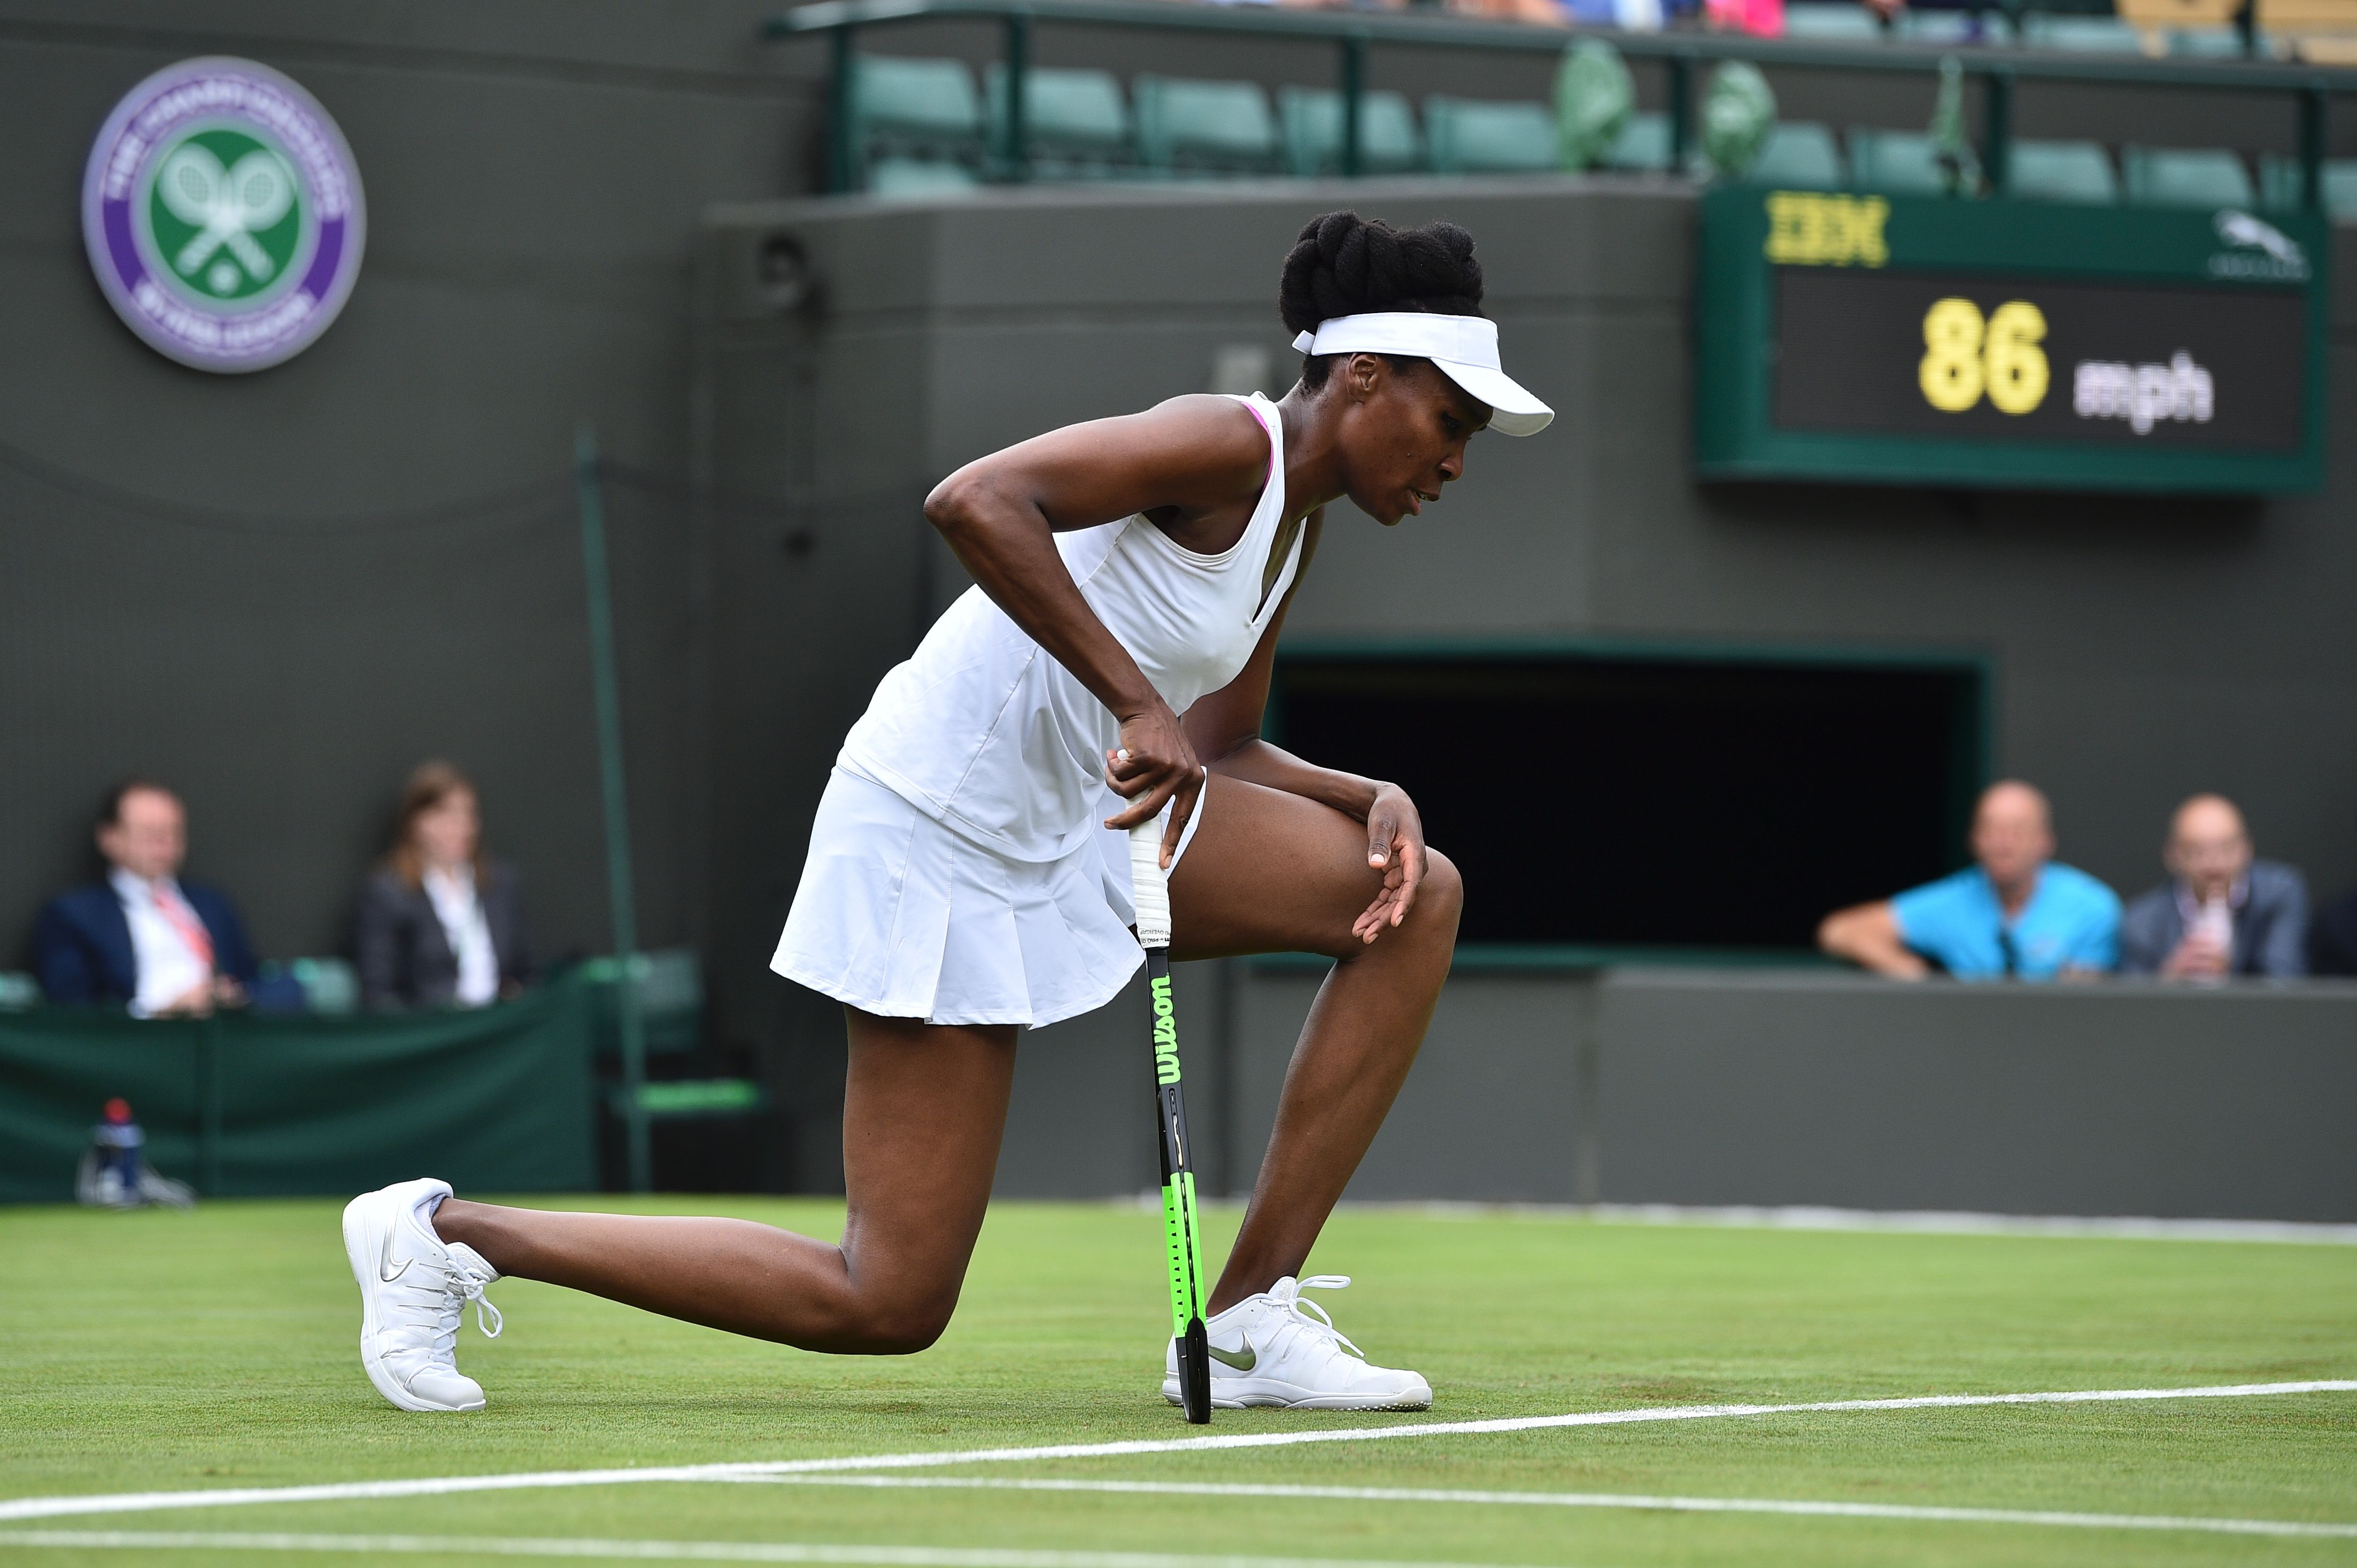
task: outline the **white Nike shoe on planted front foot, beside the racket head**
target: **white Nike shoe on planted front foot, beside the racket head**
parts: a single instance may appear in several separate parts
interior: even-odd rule
[[[1242,1410],[1431,1410],[1433,1386],[1417,1372],[1367,1361],[1303,1290],[1341,1290],[1346,1273],[1282,1278],[1204,1323],[1211,1344],[1211,1405]],[[1162,1363],[1162,1398],[1178,1403],[1178,1342]]]

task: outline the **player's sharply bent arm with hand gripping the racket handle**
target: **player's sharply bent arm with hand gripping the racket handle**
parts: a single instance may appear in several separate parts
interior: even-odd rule
[[[1202,764],[1162,693],[1082,599],[1056,533],[1134,512],[1214,512],[1261,490],[1268,434],[1233,398],[1171,398],[1138,415],[1068,424],[981,457],[943,479],[924,516],[983,592],[1070,670],[1122,724],[1108,778],[1129,809],[1108,828],[1153,818],[1176,797],[1164,861],[1202,790]]]

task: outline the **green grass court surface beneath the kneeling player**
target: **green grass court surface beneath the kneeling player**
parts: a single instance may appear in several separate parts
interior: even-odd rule
[[[606,1200],[601,1200],[606,1203]],[[613,1203],[620,1207],[620,1203]],[[834,1236],[841,1207],[658,1200]],[[1207,1217],[1223,1243],[1235,1212]],[[403,1415],[354,1353],[332,1203],[0,1212],[0,1497],[1188,1436],[1157,1396],[1160,1217],[999,1205],[933,1351],[851,1361],[526,1280],[471,1327],[467,1417]],[[1214,1257],[1219,1247],[1214,1245]],[[1343,1212],[1341,1327],[1431,1417],[2357,1375],[2357,1247],[1803,1233]],[[2357,1521],[2357,1394],[1784,1415],[992,1464],[988,1476],[1676,1493]],[[14,1528],[316,1530],[1327,1556],[1457,1563],[2350,1563],[2352,1540],[1438,1502],[610,1485],[101,1514]],[[57,1563],[233,1551],[26,1549]],[[351,1563],[354,1556],[255,1554]],[[403,1559],[408,1561],[408,1559]],[[495,1561],[495,1559],[455,1559]]]

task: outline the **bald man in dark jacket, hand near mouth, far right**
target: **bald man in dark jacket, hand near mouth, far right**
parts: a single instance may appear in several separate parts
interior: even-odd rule
[[[2230,974],[2308,974],[2308,882],[2251,856],[2242,811],[2225,795],[2194,795],[2168,821],[2168,882],[2119,922],[2124,974],[2223,981]]]

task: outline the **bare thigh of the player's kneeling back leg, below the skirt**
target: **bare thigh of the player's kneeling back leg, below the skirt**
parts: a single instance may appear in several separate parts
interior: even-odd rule
[[[1016,1030],[844,1016],[844,1254],[860,1285],[955,1302],[997,1172]]]

